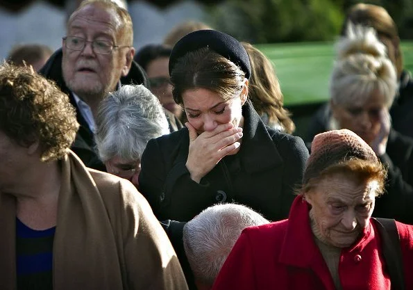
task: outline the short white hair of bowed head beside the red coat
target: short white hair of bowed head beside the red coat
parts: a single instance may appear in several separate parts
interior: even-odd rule
[[[183,245],[195,279],[212,286],[242,230],[266,223],[241,204],[217,204],[189,220],[183,227]]]

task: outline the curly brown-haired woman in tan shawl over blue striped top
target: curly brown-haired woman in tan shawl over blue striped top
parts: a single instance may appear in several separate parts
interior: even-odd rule
[[[54,83],[0,66],[0,289],[187,289],[142,195],[69,150],[77,129]]]

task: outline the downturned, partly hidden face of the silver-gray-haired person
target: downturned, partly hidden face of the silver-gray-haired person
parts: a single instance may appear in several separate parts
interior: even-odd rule
[[[138,177],[140,174],[140,160],[126,161],[119,156],[115,156],[106,161],[105,166],[108,173],[128,179],[139,189]]]

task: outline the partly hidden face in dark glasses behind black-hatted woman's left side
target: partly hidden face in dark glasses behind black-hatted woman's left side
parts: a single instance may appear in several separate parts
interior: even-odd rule
[[[172,85],[169,78],[169,57],[155,58],[146,67],[146,74],[151,83],[153,95],[158,97],[160,103],[168,111],[171,111],[177,118],[183,113],[182,108],[176,104],[172,95]]]

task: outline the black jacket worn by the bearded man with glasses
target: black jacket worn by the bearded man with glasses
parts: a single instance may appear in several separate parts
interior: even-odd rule
[[[45,76],[47,79],[56,81],[56,84],[60,87],[63,92],[66,92],[69,95],[71,104],[76,108],[76,118],[80,127],[76,134],[74,143],[71,145],[71,150],[79,156],[79,158],[85,163],[85,166],[94,168],[96,170],[106,171],[105,166],[99,159],[99,156],[96,152],[96,144],[94,143],[94,134],[89,129],[85,118],[80,113],[79,108],[76,104],[76,101],[67,88],[65,81],[63,80],[62,75],[62,49],[58,49],[47,61],[47,63],[40,70],[40,74]],[[149,81],[146,76],[146,73],[133,61],[130,71],[127,76],[121,77],[121,83],[129,84],[143,84],[146,87],[149,87]]]

